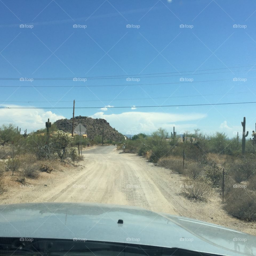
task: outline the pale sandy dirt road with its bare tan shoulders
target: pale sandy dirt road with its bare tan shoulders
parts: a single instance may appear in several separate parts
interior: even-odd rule
[[[222,209],[221,196],[208,202],[184,198],[180,185],[184,177],[154,166],[135,154],[123,154],[115,146],[97,146],[83,151],[78,167],[65,167],[51,174],[41,173],[20,187],[5,177],[8,192],[1,204],[25,202],[97,202],[139,206],[152,211],[199,219],[256,235],[256,223],[229,216]]]

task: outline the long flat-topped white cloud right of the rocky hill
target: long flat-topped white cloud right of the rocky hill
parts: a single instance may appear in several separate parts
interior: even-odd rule
[[[93,118],[103,118],[123,134],[144,132],[152,133],[159,127],[167,130],[175,129],[177,134],[184,130],[193,130],[197,128],[196,124],[188,123],[189,121],[205,118],[206,114],[186,113],[186,114],[170,114],[162,112],[123,112],[121,114],[106,114],[98,112],[91,115]],[[182,122],[182,123],[181,123]],[[186,123],[185,123],[186,122]]]

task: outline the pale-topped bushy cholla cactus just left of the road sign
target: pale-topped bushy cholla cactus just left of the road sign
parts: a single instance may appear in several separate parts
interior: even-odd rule
[[[63,160],[65,157],[67,148],[71,145],[73,141],[73,137],[70,136],[69,133],[65,133],[64,131],[57,131],[52,136],[52,144],[54,152],[58,154],[58,156]]]

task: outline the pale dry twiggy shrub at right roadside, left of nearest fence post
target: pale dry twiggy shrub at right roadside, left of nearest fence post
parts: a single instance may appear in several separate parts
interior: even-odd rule
[[[199,179],[187,179],[181,185],[182,194],[190,199],[205,200],[213,195],[214,190]]]

